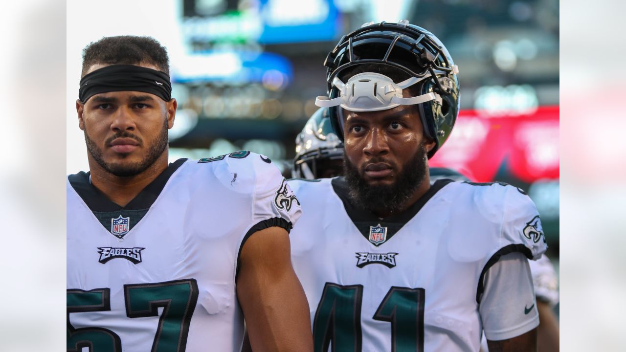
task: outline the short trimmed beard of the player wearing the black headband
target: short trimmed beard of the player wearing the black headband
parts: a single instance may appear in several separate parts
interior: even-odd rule
[[[168,123],[167,122],[168,121],[166,118],[165,122],[163,123],[163,128],[161,129],[161,132],[156,137],[155,142],[152,143],[152,145],[150,145],[150,148],[148,148],[148,155],[146,155],[146,157],[143,158],[143,160],[141,160],[140,162],[132,162],[132,163],[105,162],[105,159],[102,157],[102,150],[98,148],[96,143],[93,142],[93,140],[87,134],[87,130],[85,130],[85,143],[87,145],[87,151],[90,153],[93,160],[95,160],[96,163],[100,165],[101,168],[103,168],[106,172],[111,173],[112,175],[115,175],[117,177],[131,177],[131,176],[138,175],[141,172],[144,172],[149,167],[151,167],[153,163],[155,163],[156,160],[163,154],[163,152],[165,152],[165,149],[167,148],[167,143],[168,143],[168,138],[167,138]],[[134,140],[139,142],[140,145],[143,144],[143,140],[141,140],[140,137],[128,131],[121,131],[121,132],[115,133],[115,135],[113,135],[112,137],[106,140],[105,144],[108,145],[108,143],[113,142],[113,140],[115,140],[116,138],[123,138],[123,137],[133,138]]]

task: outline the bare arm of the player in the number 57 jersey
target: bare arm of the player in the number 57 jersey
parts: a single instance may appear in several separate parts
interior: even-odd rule
[[[255,352],[312,351],[309,305],[291,266],[282,229],[253,234],[244,245],[237,297]]]

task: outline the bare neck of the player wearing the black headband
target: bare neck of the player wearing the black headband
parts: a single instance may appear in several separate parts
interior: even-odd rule
[[[106,172],[95,160],[89,159],[91,184],[111,202],[125,207],[147,185],[160,175],[168,165],[168,152],[165,150],[156,161],[141,173],[130,177],[119,177]]]

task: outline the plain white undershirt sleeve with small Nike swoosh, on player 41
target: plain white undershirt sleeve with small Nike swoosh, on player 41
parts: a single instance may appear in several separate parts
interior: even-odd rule
[[[523,254],[505,254],[490,267],[478,310],[485,336],[492,341],[520,336],[539,325],[530,267]]]

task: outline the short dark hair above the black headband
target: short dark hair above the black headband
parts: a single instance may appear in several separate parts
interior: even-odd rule
[[[149,36],[103,37],[83,49],[83,72],[85,76],[91,65],[155,65],[160,71],[170,75],[170,59],[167,49]]]

